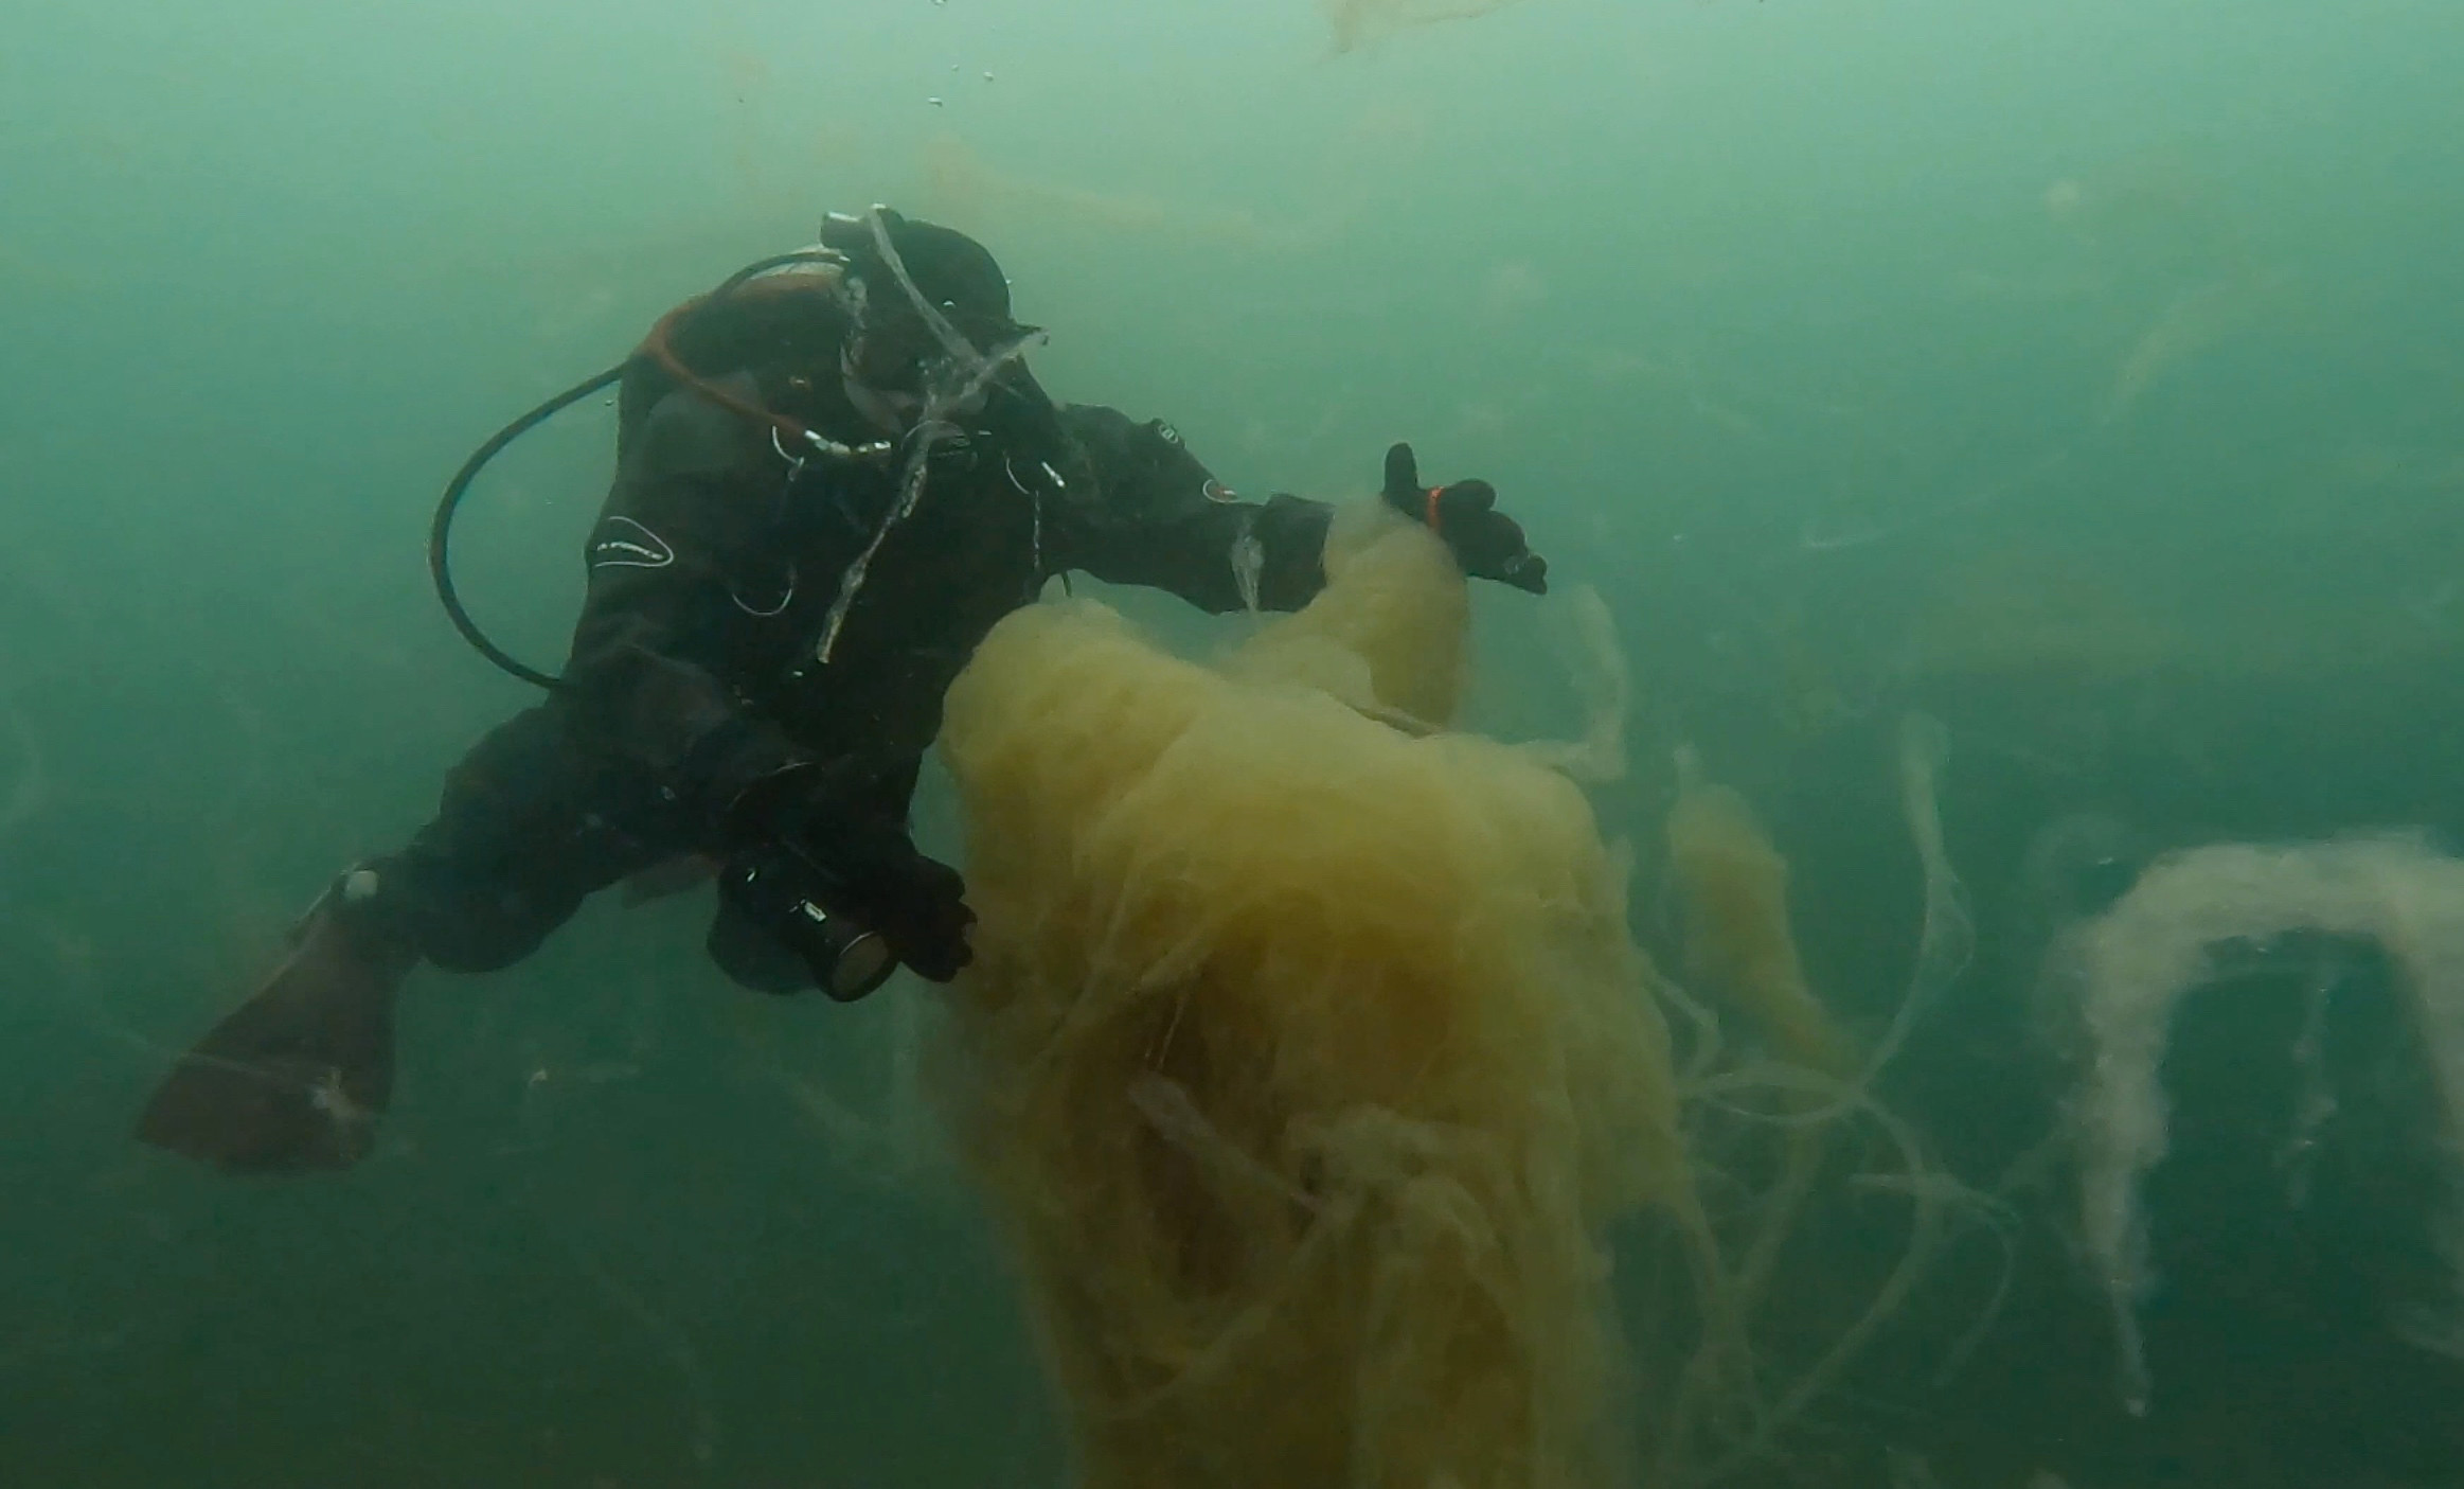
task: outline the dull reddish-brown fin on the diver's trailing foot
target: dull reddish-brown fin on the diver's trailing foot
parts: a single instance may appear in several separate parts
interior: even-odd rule
[[[367,1156],[394,1090],[394,991],[419,954],[350,912],[362,873],[318,900],[266,986],[180,1055],[138,1139],[232,1173]]]

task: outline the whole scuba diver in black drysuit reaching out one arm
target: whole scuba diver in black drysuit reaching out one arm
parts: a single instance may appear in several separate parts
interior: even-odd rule
[[[717,865],[707,952],[734,981],[860,998],[968,961],[958,873],[917,851],[909,794],[968,653],[1045,582],[1087,572],[1215,611],[1323,584],[1331,508],[1237,500],[1170,424],[1052,402],[1010,288],[971,237],[887,207],[670,311],[618,367],[508,426],[431,542],[466,638],[549,688],[453,767],[436,818],[333,880],[264,989],[182,1055],[138,1136],[239,1173],[357,1161],[421,961],[478,974],[596,890]],[[453,599],[451,513],[503,444],[616,385],[616,478],[584,540],[562,678]],[[1533,594],[1547,565],[1486,481],[1385,496],[1466,574]]]

